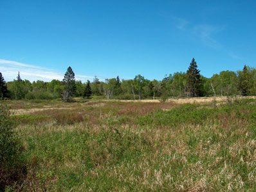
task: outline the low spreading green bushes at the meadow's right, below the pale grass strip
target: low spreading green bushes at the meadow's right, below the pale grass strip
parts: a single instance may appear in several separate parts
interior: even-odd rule
[[[256,106],[248,106],[247,103],[229,106],[223,105],[221,108],[199,108],[196,104],[184,104],[170,111],[159,110],[145,116],[138,116],[137,122],[140,125],[170,125],[176,127],[183,124],[203,125],[206,122],[231,123],[233,118],[239,117],[256,122],[253,114]],[[248,114],[250,113],[250,116]]]

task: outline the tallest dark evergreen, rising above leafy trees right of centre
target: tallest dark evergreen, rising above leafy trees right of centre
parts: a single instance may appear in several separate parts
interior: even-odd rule
[[[199,97],[201,92],[200,70],[197,69],[196,61],[193,58],[187,70],[187,92],[190,97]]]

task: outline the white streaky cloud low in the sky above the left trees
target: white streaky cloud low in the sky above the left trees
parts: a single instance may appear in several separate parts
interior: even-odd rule
[[[20,72],[22,79],[28,79],[29,81],[51,81],[52,79],[62,80],[64,73],[54,70],[52,68],[45,68],[37,65],[29,65],[25,63],[19,63],[17,61],[9,61],[0,59],[0,72],[2,72],[6,81],[12,81],[17,77]],[[94,77],[84,76],[76,74],[76,79],[82,82],[93,80]]]

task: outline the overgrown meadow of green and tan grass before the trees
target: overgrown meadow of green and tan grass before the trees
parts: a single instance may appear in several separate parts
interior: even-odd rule
[[[8,101],[27,164],[18,188],[256,191],[250,102]]]

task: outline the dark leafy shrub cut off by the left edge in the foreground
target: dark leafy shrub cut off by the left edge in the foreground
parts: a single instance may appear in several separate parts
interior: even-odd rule
[[[22,150],[10,110],[5,104],[0,104],[0,191],[23,177],[26,169]]]

